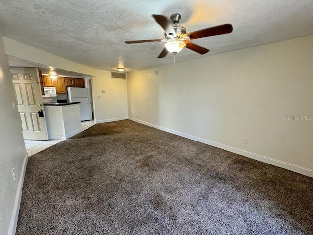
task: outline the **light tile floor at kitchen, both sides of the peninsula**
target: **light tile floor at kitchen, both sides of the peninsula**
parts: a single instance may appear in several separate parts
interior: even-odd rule
[[[94,121],[83,121],[82,122],[83,131],[85,131],[86,129],[93,125]],[[25,140],[25,146],[28,156],[31,156],[61,141],[62,140],[48,140],[48,141]]]

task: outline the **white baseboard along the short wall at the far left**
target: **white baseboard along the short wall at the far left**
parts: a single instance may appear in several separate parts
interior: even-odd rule
[[[15,202],[14,202],[13,213],[12,213],[12,217],[10,221],[8,235],[15,235],[16,226],[17,226],[18,217],[19,217],[19,210],[20,210],[20,203],[21,203],[22,189],[23,189],[23,184],[24,184],[27,161],[28,161],[28,154],[26,153],[26,156],[22,165],[22,171],[20,175],[18,188],[17,188],[16,195],[15,195]]]

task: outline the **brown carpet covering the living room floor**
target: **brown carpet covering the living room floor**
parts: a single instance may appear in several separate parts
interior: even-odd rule
[[[17,234],[309,235],[313,178],[130,120],[97,124],[29,158]]]

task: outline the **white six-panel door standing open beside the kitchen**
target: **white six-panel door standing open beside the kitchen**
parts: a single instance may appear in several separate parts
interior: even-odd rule
[[[11,74],[24,140],[48,140],[45,117],[38,114],[44,111],[38,69],[11,69]]]

